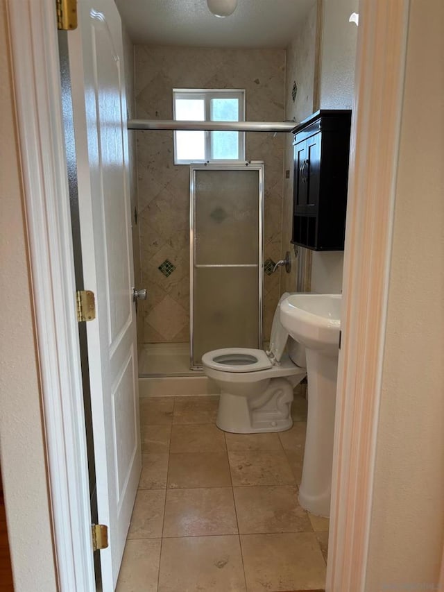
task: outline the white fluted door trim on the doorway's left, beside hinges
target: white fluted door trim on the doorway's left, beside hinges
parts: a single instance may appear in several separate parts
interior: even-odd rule
[[[58,580],[61,591],[89,592],[96,586],[55,2],[7,6]]]

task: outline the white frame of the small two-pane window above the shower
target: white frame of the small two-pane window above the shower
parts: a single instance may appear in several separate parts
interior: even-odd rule
[[[239,118],[237,121],[245,121],[245,89],[240,88],[173,88],[173,119],[174,121],[187,121],[186,119],[176,119],[176,99],[200,99],[204,101],[205,119],[203,121],[212,121],[211,101],[212,99],[237,99],[239,104]],[[191,121],[191,120],[189,120]],[[177,135],[178,130],[174,131],[174,164],[191,164],[192,162],[243,162],[246,153],[245,132],[237,132],[239,145],[239,158],[221,159],[211,158],[212,151],[212,132],[205,130],[205,158],[197,159],[179,159],[177,156]]]

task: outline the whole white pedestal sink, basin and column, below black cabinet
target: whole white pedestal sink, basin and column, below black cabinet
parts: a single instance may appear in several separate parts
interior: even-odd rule
[[[341,294],[291,294],[280,321],[307,354],[308,416],[300,505],[330,515]]]

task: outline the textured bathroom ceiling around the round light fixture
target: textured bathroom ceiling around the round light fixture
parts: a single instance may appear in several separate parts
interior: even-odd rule
[[[206,0],[115,0],[135,44],[285,48],[316,0],[238,0],[219,19]]]

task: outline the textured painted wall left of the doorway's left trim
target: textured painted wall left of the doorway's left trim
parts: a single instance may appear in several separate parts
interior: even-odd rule
[[[56,592],[24,203],[0,0],[0,462],[17,592]],[[38,511],[36,511],[38,509]]]

